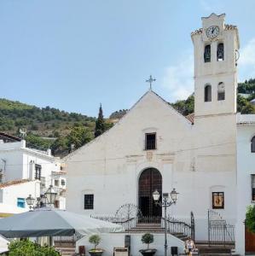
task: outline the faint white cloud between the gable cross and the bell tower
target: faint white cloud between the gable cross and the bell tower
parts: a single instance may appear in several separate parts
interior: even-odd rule
[[[194,92],[193,55],[185,55],[176,65],[166,67],[163,87],[170,90],[171,101],[187,99]]]

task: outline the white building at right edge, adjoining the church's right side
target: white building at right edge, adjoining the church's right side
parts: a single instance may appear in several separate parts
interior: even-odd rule
[[[246,207],[255,202],[255,115],[237,115],[236,252],[255,252],[255,235],[245,228]]]

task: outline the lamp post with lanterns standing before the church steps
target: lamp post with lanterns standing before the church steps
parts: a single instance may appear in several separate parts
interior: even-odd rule
[[[166,224],[166,208],[171,207],[172,204],[177,203],[177,193],[176,189],[171,190],[171,201],[169,201],[169,193],[163,193],[163,200],[162,203],[159,202],[160,194],[159,191],[156,189],[153,193],[155,204],[159,205],[160,207],[164,207],[165,210],[165,256],[167,256],[167,224]]]

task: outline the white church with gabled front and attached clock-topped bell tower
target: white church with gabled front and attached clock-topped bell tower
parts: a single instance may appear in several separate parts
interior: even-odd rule
[[[69,154],[67,210],[114,215],[125,204],[162,216],[153,192],[179,193],[168,208],[208,239],[208,209],[236,221],[236,26],[202,18],[194,44],[194,115],[184,117],[148,90],[109,131]],[[164,213],[163,213],[164,214]]]

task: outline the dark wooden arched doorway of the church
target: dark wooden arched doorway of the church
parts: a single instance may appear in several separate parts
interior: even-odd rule
[[[142,216],[162,216],[162,207],[154,204],[153,193],[162,195],[162,176],[155,168],[145,169],[139,177],[138,200]],[[161,201],[161,196],[159,201]]]

